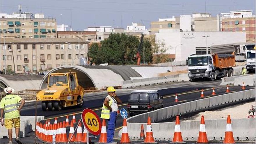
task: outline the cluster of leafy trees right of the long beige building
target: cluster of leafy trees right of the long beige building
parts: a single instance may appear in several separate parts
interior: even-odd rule
[[[136,54],[140,40],[134,35],[125,33],[111,33],[109,38],[99,44],[93,43],[89,49],[90,61],[95,64],[109,63],[111,65],[135,65]],[[145,63],[159,63],[168,61],[164,42],[157,41],[152,35],[144,37],[140,49],[141,62],[143,62],[143,48],[145,49]]]

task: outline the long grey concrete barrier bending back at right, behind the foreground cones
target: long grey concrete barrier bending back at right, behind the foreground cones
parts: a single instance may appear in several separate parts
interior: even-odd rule
[[[140,125],[143,124],[144,127],[146,127],[148,116],[151,117],[152,122],[158,122],[174,117],[175,115],[207,110],[209,108],[217,108],[219,106],[224,106],[227,103],[253,98],[255,98],[255,89],[199,99],[136,115],[127,119],[129,137],[131,139],[137,139],[140,136]],[[231,121],[235,140],[255,140],[255,119],[231,119]],[[205,124],[209,140],[224,139],[226,120],[206,120]],[[172,140],[174,127],[175,122],[152,123],[154,138],[156,140],[164,141]],[[198,138],[199,127],[200,121],[181,122],[183,139],[196,140]],[[119,136],[121,136],[121,134],[122,129],[119,131]]]

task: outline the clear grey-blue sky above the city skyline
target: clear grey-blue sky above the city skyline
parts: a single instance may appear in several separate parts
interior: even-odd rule
[[[255,14],[255,0],[0,0],[0,12],[17,12],[19,4],[22,12],[44,13],[45,18],[56,18],[57,24],[77,31],[91,26],[126,28],[132,22],[149,29],[158,18],[191,13],[207,12],[213,17],[230,10],[253,10]]]

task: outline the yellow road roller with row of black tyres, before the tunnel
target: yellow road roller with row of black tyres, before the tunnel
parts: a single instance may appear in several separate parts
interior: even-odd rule
[[[61,110],[64,107],[83,107],[84,89],[79,86],[76,72],[51,73],[47,88],[39,91],[37,100],[42,101],[43,111]]]

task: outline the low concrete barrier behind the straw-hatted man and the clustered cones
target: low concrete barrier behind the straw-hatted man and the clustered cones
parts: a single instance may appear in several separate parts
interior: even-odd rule
[[[45,116],[37,116],[37,121],[44,120]],[[35,131],[35,116],[20,116],[19,137],[26,137],[31,131]],[[0,125],[0,138],[8,137],[8,129]],[[16,137],[15,129],[13,128],[13,138]]]

